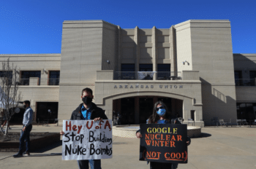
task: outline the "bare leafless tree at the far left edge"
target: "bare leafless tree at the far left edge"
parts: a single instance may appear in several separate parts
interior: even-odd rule
[[[10,66],[10,58],[4,60],[2,63],[2,70],[0,71],[0,106],[4,115],[4,121],[6,120],[6,127],[1,127],[1,132],[4,135],[8,134],[8,125],[15,109],[18,107],[18,101],[20,101],[20,93],[18,94],[18,79],[19,72],[17,66]]]

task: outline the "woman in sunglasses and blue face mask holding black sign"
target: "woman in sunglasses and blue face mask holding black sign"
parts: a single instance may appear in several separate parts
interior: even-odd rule
[[[162,101],[154,104],[153,114],[146,120],[147,124],[181,124],[177,118],[168,119],[167,106]],[[142,138],[140,130],[136,132],[137,138]],[[190,144],[190,138],[187,138],[187,145]],[[150,169],[176,169],[178,163],[150,162]]]

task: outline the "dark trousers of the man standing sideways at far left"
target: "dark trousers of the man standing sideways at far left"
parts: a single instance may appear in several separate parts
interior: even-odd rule
[[[23,126],[24,127],[24,126]],[[26,152],[30,151],[30,132],[32,130],[32,125],[29,125],[26,127],[25,131],[21,130],[20,133],[20,147],[19,147],[19,154],[23,153],[23,146],[24,146],[24,141],[26,141]]]

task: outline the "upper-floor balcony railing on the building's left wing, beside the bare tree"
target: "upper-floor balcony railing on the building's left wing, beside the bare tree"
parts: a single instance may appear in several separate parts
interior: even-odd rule
[[[19,79],[18,85],[59,85],[59,79]]]

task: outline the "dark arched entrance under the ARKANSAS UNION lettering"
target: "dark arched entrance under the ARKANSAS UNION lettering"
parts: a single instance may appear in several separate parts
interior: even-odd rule
[[[151,114],[153,114],[154,103],[162,101],[168,109],[168,118],[183,117],[183,101],[176,98],[167,98],[159,96],[138,96],[129,98],[120,98],[113,100],[113,121],[118,118],[120,125],[138,125],[146,123]],[[115,121],[114,121],[115,122]],[[115,124],[115,123],[114,123]]]

